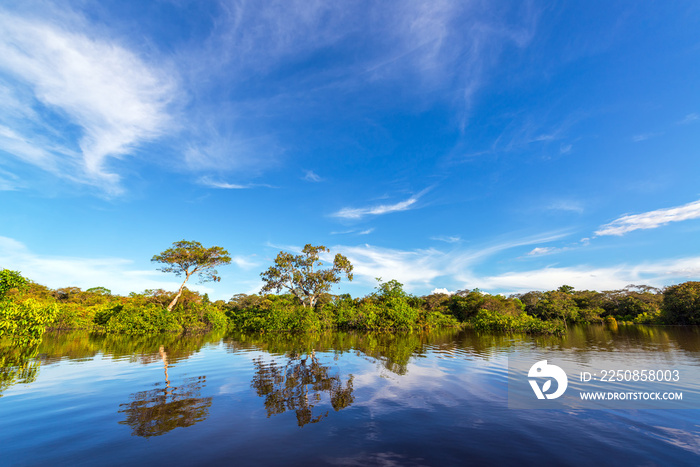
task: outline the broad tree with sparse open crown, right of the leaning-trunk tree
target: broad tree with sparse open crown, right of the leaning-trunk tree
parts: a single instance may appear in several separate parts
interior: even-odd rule
[[[348,280],[352,280],[352,264],[340,253],[333,259],[333,267],[316,269],[323,266],[320,261],[320,253],[329,253],[325,246],[312,246],[307,244],[300,255],[292,255],[280,251],[275,258],[275,265],[260,274],[265,284],[264,293],[273,290],[279,293],[287,289],[294,294],[304,307],[313,308],[318,298],[328,292],[333,284],[340,282],[341,273],[345,273]]]

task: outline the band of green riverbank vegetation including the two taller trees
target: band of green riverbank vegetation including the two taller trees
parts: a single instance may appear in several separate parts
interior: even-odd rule
[[[326,247],[312,245],[296,256],[280,252],[274,266],[261,274],[261,294],[238,294],[215,302],[187,289],[185,282],[193,274],[201,280],[219,280],[213,267],[228,264],[230,257],[220,247],[207,249],[198,242],[175,242],[173,248],[153,257],[165,264],[161,270],[186,276],[177,292],[157,289],[121,296],[104,287],[50,289],[3,269],[0,337],[38,339],[46,329],[145,335],[213,329],[309,332],[462,327],[562,334],[570,323],[700,324],[700,282],[663,290],[630,285],[597,292],[563,285],[509,297],[479,289],[418,297],[404,291],[396,280],[378,279],[373,293],[353,298],[329,293],[342,275],[352,280],[353,266],[336,254],[331,267],[323,269],[320,256],[325,253],[329,253]]]

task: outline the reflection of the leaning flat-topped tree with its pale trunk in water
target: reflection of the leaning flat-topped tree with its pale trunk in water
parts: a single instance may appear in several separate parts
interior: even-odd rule
[[[133,436],[160,436],[178,427],[192,426],[209,416],[212,398],[197,397],[206,385],[206,376],[188,378],[180,386],[171,387],[168,357],[162,346],[160,356],[165,387],[137,392],[131,395],[131,402],[120,405],[123,409],[119,413],[125,413],[126,420],[119,423],[129,425]]]

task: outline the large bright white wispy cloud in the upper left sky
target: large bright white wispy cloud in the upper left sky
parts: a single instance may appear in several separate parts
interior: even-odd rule
[[[0,117],[0,149],[30,164],[115,193],[119,175],[106,160],[172,125],[168,108],[178,91],[171,75],[99,31],[88,33],[80,19],[59,24],[0,10],[0,56],[0,71],[14,81],[2,93],[10,99],[0,106],[11,111]],[[63,119],[79,128],[77,147],[61,135]]]

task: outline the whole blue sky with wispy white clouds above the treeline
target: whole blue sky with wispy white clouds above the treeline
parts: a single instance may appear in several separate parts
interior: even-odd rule
[[[700,279],[700,5],[5,1],[0,267],[212,298],[282,249],[415,294]]]

